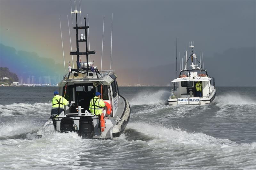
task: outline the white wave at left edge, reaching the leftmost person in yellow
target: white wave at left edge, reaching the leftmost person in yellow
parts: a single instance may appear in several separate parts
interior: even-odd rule
[[[13,103],[0,105],[0,116],[17,116],[17,115],[37,115],[38,113],[47,113],[51,111],[51,103]]]

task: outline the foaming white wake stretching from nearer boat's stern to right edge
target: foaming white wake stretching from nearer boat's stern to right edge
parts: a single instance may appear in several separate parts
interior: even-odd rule
[[[133,135],[138,136],[137,138]],[[228,139],[219,139],[204,133],[188,133],[185,130],[176,128],[166,128],[159,125],[129,123],[124,131],[124,135],[128,140],[142,140],[152,141],[155,144],[181,145],[185,144],[191,147],[205,147],[205,148],[225,148],[228,146],[243,146],[256,149],[256,143],[239,144]],[[145,137],[146,136],[146,137]]]

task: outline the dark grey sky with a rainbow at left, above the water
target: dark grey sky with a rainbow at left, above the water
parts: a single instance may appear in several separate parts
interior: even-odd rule
[[[75,1],[71,1],[74,10]],[[113,13],[112,69],[119,85],[164,86],[176,78],[179,54],[193,41],[195,53],[204,52],[204,65],[216,86],[256,86],[256,1],[80,1],[89,16],[91,60],[100,68],[103,16],[103,64],[110,69],[111,13]],[[76,0],[80,10],[79,0]],[[76,48],[71,29],[70,1],[0,0],[0,66],[27,80],[28,75],[59,81],[72,65]],[[67,16],[68,15],[68,16]],[[78,25],[81,25],[78,14]],[[75,15],[73,15],[75,26]],[[82,48],[82,47],[80,47]],[[84,50],[85,51],[85,50]],[[76,61],[76,56],[73,58]],[[82,61],[85,57],[82,56]],[[76,67],[76,64],[74,64]],[[235,71],[234,71],[235,70]],[[227,78],[226,75],[234,75]],[[58,77],[58,78],[56,78]],[[242,82],[247,78],[248,81]]]

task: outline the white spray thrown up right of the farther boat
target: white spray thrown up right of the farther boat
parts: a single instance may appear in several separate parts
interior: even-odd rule
[[[251,98],[248,96],[241,95],[237,92],[232,92],[232,94],[222,94],[222,95],[216,95],[213,104],[217,105],[227,105],[227,104],[233,104],[233,105],[245,105],[245,104],[253,104],[256,105],[256,99]]]

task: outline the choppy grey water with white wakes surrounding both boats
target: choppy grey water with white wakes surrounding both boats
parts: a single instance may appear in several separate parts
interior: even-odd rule
[[[131,118],[116,140],[35,138],[56,87],[0,87],[0,169],[256,169],[256,88],[217,87],[204,106],[167,106],[170,87],[120,87]]]

